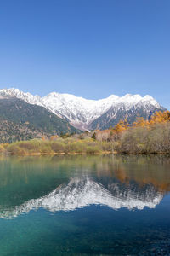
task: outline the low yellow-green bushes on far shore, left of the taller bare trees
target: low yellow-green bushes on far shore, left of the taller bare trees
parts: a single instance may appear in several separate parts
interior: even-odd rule
[[[98,142],[92,138],[77,140],[58,138],[55,141],[33,139],[11,144],[1,144],[2,154],[102,154],[112,153],[113,143]]]

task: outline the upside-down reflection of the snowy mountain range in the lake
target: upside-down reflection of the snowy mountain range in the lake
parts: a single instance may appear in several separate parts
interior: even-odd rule
[[[70,212],[90,205],[107,206],[114,210],[121,207],[142,210],[144,207],[155,208],[162,197],[151,185],[138,190],[133,186],[122,189],[120,183],[110,183],[105,188],[87,176],[74,177],[69,183],[60,184],[57,189],[41,198],[31,199],[8,210],[3,210],[0,206],[0,218],[17,217],[40,207],[50,212]]]

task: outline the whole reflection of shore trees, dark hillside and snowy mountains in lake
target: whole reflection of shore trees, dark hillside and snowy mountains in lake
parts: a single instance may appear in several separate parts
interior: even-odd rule
[[[118,156],[2,159],[0,218],[38,208],[50,212],[90,205],[114,210],[155,208],[169,188],[169,162],[163,163],[165,169],[156,157],[135,161]]]

